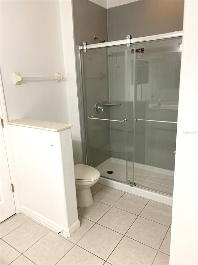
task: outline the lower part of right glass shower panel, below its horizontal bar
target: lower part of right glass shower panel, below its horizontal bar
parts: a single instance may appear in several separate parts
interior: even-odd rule
[[[136,122],[134,181],[137,186],[173,194],[176,130],[176,124]]]

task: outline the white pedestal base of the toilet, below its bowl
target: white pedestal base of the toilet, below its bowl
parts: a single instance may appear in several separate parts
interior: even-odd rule
[[[76,189],[76,197],[78,207],[88,207],[93,203],[92,192],[89,187],[83,190]]]

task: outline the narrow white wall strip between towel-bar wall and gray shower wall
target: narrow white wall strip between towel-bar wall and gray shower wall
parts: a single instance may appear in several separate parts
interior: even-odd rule
[[[80,135],[79,103],[77,95],[73,15],[71,0],[60,1],[60,18],[62,27],[62,44],[67,76],[67,106],[74,152],[74,164],[82,164],[82,146]]]

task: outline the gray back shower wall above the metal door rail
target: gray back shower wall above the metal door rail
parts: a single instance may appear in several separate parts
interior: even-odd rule
[[[183,0],[141,0],[109,8],[108,40],[182,30],[183,6]]]

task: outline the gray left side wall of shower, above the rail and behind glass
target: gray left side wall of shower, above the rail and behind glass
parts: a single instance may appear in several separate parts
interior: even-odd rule
[[[88,44],[95,43],[94,35],[107,41],[107,9],[87,0],[72,1],[72,5],[75,45],[82,45],[84,41]],[[96,40],[97,42],[99,41]],[[110,123],[87,119],[91,115],[110,117],[109,108],[104,108],[104,113],[94,112],[97,101],[102,104],[109,100],[106,49],[88,50],[83,53],[82,64],[87,159],[88,165],[96,167],[110,158]]]

